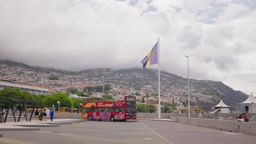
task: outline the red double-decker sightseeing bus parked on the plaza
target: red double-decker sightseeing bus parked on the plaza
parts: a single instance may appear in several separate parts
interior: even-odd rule
[[[102,98],[85,98],[82,103],[83,119],[109,119],[126,121],[136,119],[136,97],[125,96],[121,101],[104,101]]]

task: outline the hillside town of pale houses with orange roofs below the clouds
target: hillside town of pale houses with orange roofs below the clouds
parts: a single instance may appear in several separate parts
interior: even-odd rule
[[[131,77],[133,75],[133,77]],[[16,80],[18,83],[26,83],[27,85],[37,85],[49,89],[49,93],[67,92],[68,88],[78,89],[80,92],[85,91],[87,86],[103,86],[109,84],[111,89],[108,95],[112,96],[115,100],[123,99],[125,95],[136,96],[137,103],[149,103],[150,101],[157,101],[158,85],[157,82],[149,80],[143,82],[147,75],[139,73],[116,73],[113,69],[95,69],[82,73],[57,73],[50,70],[34,70],[25,67],[9,66],[7,64],[0,64],[0,79]],[[55,77],[56,79],[51,79]],[[138,83],[128,83],[129,79],[137,79]],[[176,104],[177,109],[184,109],[187,97],[187,86],[184,80],[175,85],[168,87],[165,85],[165,77],[163,77],[161,89],[161,101],[163,103]],[[145,79],[146,80],[146,79]],[[168,81],[167,81],[168,82]],[[122,84],[123,83],[123,84]],[[191,80],[193,83],[193,80]],[[126,85],[127,84],[127,85]],[[137,86],[140,86],[139,88]],[[93,92],[91,97],[102,97],[103,92]],[[144,98],[144,100],[143,100]],[[204,104],[213,105],[212,95],[202,94],[192,86],[190,86],[190,103],[194,106],[202,107]],[[183,102],[182,102],[183,101]],[[185,105],[184,105],[185,104]],[[197,105],[198,104],[198,105]],[[155,104],[157,105],[157,104]]]

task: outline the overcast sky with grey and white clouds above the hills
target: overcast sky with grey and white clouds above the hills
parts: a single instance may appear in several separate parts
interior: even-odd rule
[[[2,1],[0,59],[66,70],[160,67],[256,96],[255,0]],[[158,65],[150,68],[157,69]]]

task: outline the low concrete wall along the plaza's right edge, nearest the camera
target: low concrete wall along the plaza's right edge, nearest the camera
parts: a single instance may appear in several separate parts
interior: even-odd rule
[[[187,117],[171,117],[173,120],[178,120],[179,123],[191,124],[200,127],[214,128],[219,130],[233,131],[248,135],[256,135],[255,122],[237,122],[220,119],[207,118],[187,118]]]

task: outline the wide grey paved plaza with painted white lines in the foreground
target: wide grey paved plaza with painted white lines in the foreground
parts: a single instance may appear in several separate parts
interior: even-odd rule
[[[80,119],[81,120],[81,119]],[[39,130],[2,131],[0,143],[255,143],[256,136],[196,127],[171,121],[80,121],[55,119],[47,122],[8,122]],[[58,125],[58,126],[56,126]],[[3,127],[3,123],[0,124]],[[19,126],[22,127],[22,126]],[[0,128],[1,129],[1,128]]]

